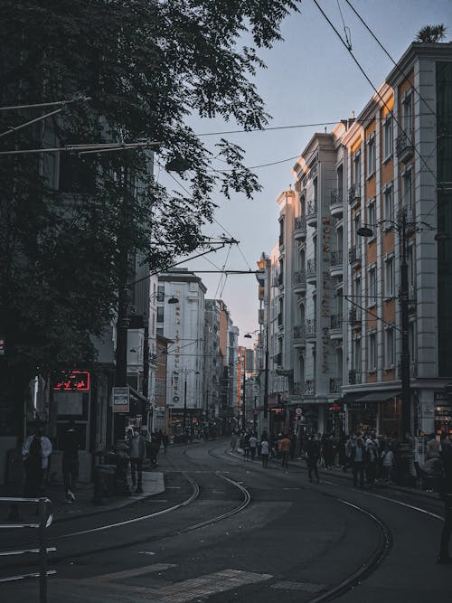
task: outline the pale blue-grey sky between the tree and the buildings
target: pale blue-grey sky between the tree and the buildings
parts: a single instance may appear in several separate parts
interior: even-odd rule
[[[391,59],[358,20],[345,0],[317,0],[334,27],[344,37],[349,28],[352,52],[372,84],[379,87],[391,71]],[[427,24],[445,24],[445,42],[452,41],[450,0],[351,0],[355,10],[372,29],[394,60],[414,41]],[[339,40],[313,0],[302,0],[300,12],[290,14],[281,25],[284,38],[271,50],[259,52],[267,69],[255,78],[260,96],[272,116],[269,127],[288,127],[256,133],[230,134],[226,138],[246,151],[248,166],[265,165],[254,171],[262,190],[253,200],[235,194],[231,200],[220,193],[213,197],[219,208],[215,222],[205,232],[213,237],[225,234],[240,241],[239,246],[211,253],[183,266],[197,270],[255,270],[262,251],[269,254],[278,238],[278,195],[295,184],[292,167],[315,132],[325,132],[340,119],[357,116],[371,99],[373,90],[350,53]],[[342,16],[341,16],[342,13]],[[344,19],[344,23],[343,23]],[[309,124],[325,124],[316,127]],[[197,134],[237,129],[221,119],[193,120]],[[306,126],[306,127],[293,127]],[[224,135],[222,135],[224,136]],[[203,137],[213,145],[219,136]],[[274,162],[275,165],[267,165]],[[165,182],[165,174],[162,175]],[[174,180],[167,179],[177,190]],[[212,265],[214,264],[214,266]],[[221,277],[199,272],[207,287],[206,297],[221,298],[240,330],[239,344],[250,347],[243,335],[258,329],[258,284],[254,275]]]

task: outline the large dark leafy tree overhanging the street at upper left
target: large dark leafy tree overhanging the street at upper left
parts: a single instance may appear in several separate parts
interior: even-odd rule
[[[5,0],[0,106],[61,99],[61,114],[0,138],[0,151],[101,142],[160,142],[157,169],[184,163],[187,193],[149,173],[149,152],[0,155],[0,396],[21,399],[37,372],[95,360],[118,305],[127,258],[153,269],[205,241],[212,193],[251,197],[243,150],[212,152],[185,124],[220,116],[245,129],[268,114],[253,81],[261,48],[280,40],[292,0]],[[244,38],[250,39],[243,45]],[[0,133],[47,109],[0,113]],[[154,148],[154,147],[153,147]],[[60,174],[59,178],[56,175]],[[8,402],[9,403],[9,402]]]

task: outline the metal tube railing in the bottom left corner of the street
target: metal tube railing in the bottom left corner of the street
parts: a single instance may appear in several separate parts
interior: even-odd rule
[[[47,576],[56,574],[56,570],[47,569],[47,553],[56,551],[55,547],[47,547],[45,530],[48,528],[53,521],[52,514],[52,501],[48,498],[14,498],[14,497],[0,497],[0,503],[10,504],[11,512],[8,523],[0,523],[0,529],[11,530],[14,528],[35,528],[38,530],[38,542],[39,547],[37,549],[21,549],[19,551],[0,551],[0,556],[16,556],[16,555],[28,555],[38,554],[39,555],[39,571],[19,574],[15,576],[6,576],[0,578],[1,582],[13,582],[21,579],[28,578],[39,578],[39,603],[46,603],[47,601]],[[38,505],[38,523],[20,523],[20,517],[18,512],[18,504],[21,503],[33,503]]]

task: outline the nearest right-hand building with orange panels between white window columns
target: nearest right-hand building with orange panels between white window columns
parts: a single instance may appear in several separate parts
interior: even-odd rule
[[[408,264],[410,431],[449,431],[452,47],[413,43],[342,143],[348,155],[348,429],[401,434]],[[360,236],[366,226],[372,234]]]

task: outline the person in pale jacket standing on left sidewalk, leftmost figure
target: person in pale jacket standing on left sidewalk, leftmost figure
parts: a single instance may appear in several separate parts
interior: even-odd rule
[[[25,469],[25,496],[42,495],[45,489],[45,474],[52,454],[52,442],[44,436],[44,428],[38,425],[35,433],[25,439],[22,458]]]

